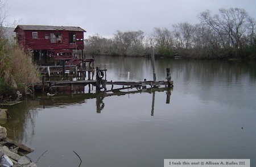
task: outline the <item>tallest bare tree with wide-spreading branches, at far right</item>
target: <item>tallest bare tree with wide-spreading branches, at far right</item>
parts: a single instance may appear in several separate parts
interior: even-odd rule
[[[241,52],[247,34],[254,33],[254,21],[249,17],[244,9],[230,8],[220,9],[220,15],[211,15],[209,10],[201,12],[199,15],[202,23],[208,24],[221,39],[222,47],[233,48],[234,55]],[[248,25],[251,25],[251,30]],[[253,27],[253,28],[252,28]]]

